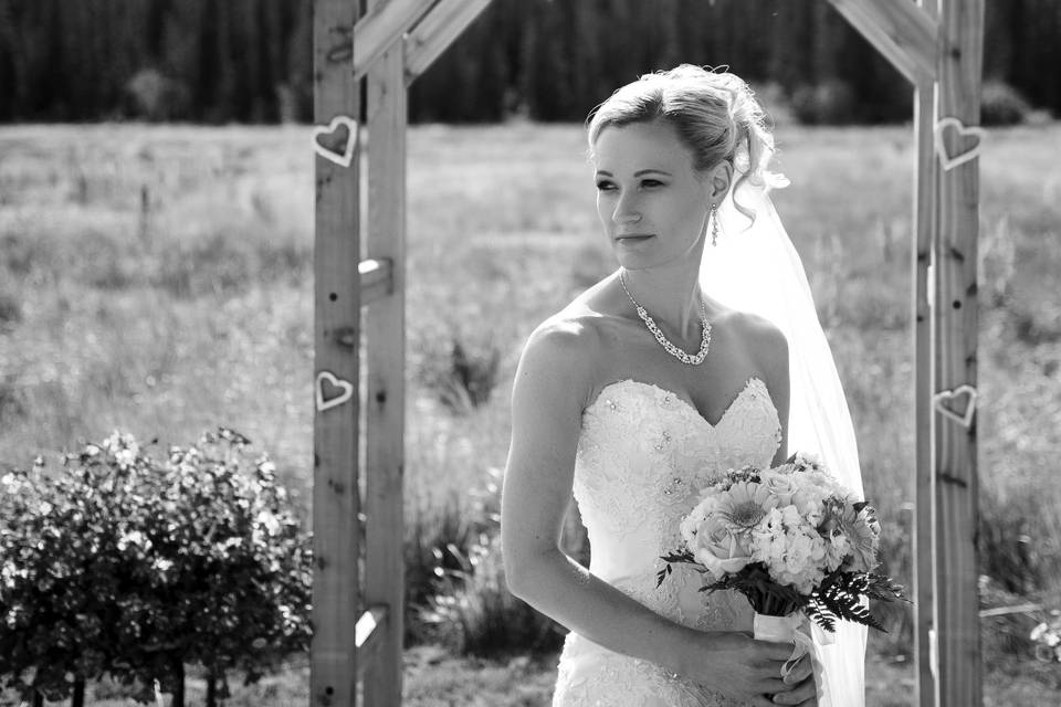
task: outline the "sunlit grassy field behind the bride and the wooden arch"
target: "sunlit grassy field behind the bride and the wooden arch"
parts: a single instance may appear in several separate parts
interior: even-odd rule
[[[908,583],[911,134],[782,126],[778,141],[792,180],[778,211],[844,380],[887,569]],[[996,130],[981,159],[980,547],[997,588],[988,605],[1061,605],[1058,144],[1057,125]],[[225,424],[260,442],[308,504],[308,145],[305,127],[0,129],[0,467],[54,460],[113,428],[165,449]],[[468,548],[496,527],[523,340],[614,264],[579,126],[423,126],[409,150],[406,539],[409,593],[423,603],[432,548]],[[1037,619],[985,622],[989,662],[1022,676],[991,678],[992,704],[1061,700],[1012,696],[1046,690],[1057,674],[1027,659]],[[871,688],[872,704],[902,704],[891,686],[908,679],[908,621],[893,612],[892,633],[872,642],[876,674],[889,678]],[[482,704],[538,705],[548,693],[547,655],[476,668],[417,651],[413,705],[474,704],[472,692],[427,697],[442,688],[424,686],[451,674],[526,693]],[[304,690],[301,675],[277,676],[275,699],[256,694],[253,704],[290,704],[280,693]]]

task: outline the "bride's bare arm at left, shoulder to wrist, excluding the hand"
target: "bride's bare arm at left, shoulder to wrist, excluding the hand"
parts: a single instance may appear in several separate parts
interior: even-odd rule
[[[501,537],[511,591],[590,641],[677,669],[672,622],[565,555],[564,515],[592,377],[596,335],[546,325],[527,342],[512,394],[512,445],[502,492]]]

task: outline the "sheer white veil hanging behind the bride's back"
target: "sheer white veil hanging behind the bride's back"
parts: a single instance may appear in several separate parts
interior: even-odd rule
[[[717,245],[704,247],[701,288],[728,307],[765,317],[785,334],[791,383],[788,453],[816,454],[842,485],[864,498],[854,428],[832,351],[802,262],[769,198],[771,188],[788,180],[767,172],[735,183],[717,210]],[[831,645],[821,645],[820,635],[816,631],[826,675],[820,707],[862,707],[865,627],[838,622]]]

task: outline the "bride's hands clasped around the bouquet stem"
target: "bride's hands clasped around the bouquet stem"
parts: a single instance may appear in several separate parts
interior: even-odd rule
[[[728,631],[695,634],[698,635],[691,636],[695,645],[683,652],[682,677],[754,707],[803,705],[808,697],[811,701],[807,705],[813,707],[816,704],[813,677],[810,678],[810,692],[803,694],[809,661],[800,661],[789,675],[789,680],[797,683],[795,688],[781,679],[781,665],[792,655],[790,643],[756,641],[746,633]],[[799,690],[800,699],[777,701],[795,697],[795,689]]]

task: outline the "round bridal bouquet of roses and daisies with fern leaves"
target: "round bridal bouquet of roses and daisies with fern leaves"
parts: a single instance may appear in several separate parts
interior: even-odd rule
[[[883,631],[865,600],[903,599],[901,587],[872,572],[881,532],[873,508],[809,455],[717,475],[681,532],[684,546],[663,556],[656,587],[687,563],[704,576],[701,591],[740,592],[756,612],[756,639],[795,642],[790,663],[813,648],[808,619],[829,633],[838,620]],[[820,690],[817,663],[815,673]]]

